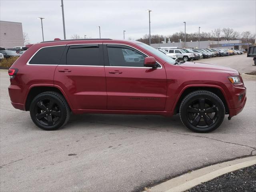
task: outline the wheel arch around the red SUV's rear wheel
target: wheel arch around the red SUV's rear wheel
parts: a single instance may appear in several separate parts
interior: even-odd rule
[[[62,94],[64,96],[64,98],[66,99],[66,101],[68,102],[70,109],[72,110],[72,105],[71,105],[70,101],[68,100],[68,97],[66,96],[65,92],[62,90],[62,88],[60,88],[59,86],[55,86],[53,84],[33,84],[33,85],[31,85],[28,88],[28,92],[26,94],[27,97],[25,100],[25,110],[26,111],[29,110],[30,104],[35,96],[37,96],[38,94],[40,94],[42,92],[46,92],[46,91],[54,91],[54,92],[58,92],[58,93]]]

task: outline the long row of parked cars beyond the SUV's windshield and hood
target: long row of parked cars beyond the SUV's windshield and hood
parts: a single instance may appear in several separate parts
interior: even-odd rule
[[[211,57],[222,57],[229,56],[235,54],[243,54],[242,51],[239,50],[229,50],[229,49],[216,49],[216,48],[208,48],[208,49],[192,49],[192,48],[173,48],[173,47],[159,47],[157,48],[159,51],[167,54],[169,57],[173,58],[175,55],[178,59],[182,59],[184,61],[190,60],[198,60],[205,59]],[[170,55],[174,54],[174,55]]]

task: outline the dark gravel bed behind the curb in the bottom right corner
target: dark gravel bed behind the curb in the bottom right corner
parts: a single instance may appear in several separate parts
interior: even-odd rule
[[[219,176],[186,192],[256,192],[256,165]]]

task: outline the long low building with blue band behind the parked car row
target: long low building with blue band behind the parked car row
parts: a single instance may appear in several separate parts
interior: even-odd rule
[[[221,40],[221,41],[189,41],[186,42],[186,48],[217,48],[217,49],[242,49],[242,45],[248,45],[248,43],[242,43],[241,40]],[[179,47],[185,48],[185,42],[169,42],[169,43],[156,43],[151,44],[152,47]]]

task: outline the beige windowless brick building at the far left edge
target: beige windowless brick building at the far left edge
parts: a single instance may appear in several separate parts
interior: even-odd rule
[[[0,21],[0,47],[13,48],[23,44],[22,23]]]

